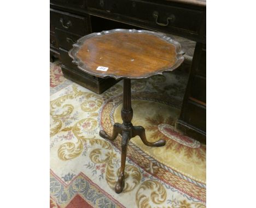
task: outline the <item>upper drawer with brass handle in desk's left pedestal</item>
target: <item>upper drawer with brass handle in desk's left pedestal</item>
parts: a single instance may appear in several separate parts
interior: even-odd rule
[[[55,28],[78,35],[89,33],[88,18],[50,9],[50,20]]]

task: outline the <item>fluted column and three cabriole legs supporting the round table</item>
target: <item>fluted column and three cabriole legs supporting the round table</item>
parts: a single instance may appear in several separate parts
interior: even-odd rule
[[[146,139],[145,129],[142,126],[133,126],[131,123],[133,111],[131,107],[131,79],[124,78],[123,88],[123,108],[121,109],[121,118],[123,124],[115,123],[113,127],[113,134],[109,136],[105,131],[100,131],[100,136],[108,140],[114,140],[118,133],[122,134],[121,142],[121,167],[117,184],[115,185],[115,192],[121,193],[123,191],[123,180],[125,171],[126,151],[129,140],[132,137],[139,136],[142,142],[148,146],[164,146],[165,140],[160,139],[156,142],[148,142]]]

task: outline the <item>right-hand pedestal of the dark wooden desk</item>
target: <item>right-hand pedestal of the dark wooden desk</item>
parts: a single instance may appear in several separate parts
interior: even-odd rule
[[[176,130],[206,144],[206,44],[196,43]]]

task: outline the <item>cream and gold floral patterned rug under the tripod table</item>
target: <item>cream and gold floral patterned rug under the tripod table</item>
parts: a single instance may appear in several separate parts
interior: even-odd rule
[[[102,139],[120,117],[123,81],[101,95],[67,79],[50,64],[50,207],[206,207],[206,145],[173,130],[187,73],[131,83],[133,125],[142,125],[152,148],[139,137],[127,148],[125,186],[114,192],[120,140]]]

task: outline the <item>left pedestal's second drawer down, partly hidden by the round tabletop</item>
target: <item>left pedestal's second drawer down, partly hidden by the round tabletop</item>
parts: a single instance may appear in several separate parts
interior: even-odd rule
[[[67,51],[71,50],[73,47],[72,45],[75,44],[79,38],[81,38],[80,35],[68,33],[58,28],[56,28],[55,33],[57,39],[59,40],[60,47],[66,49]]]

